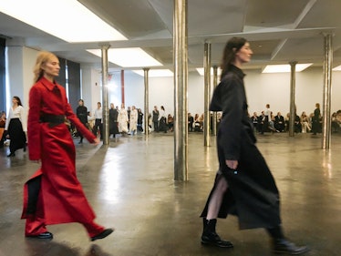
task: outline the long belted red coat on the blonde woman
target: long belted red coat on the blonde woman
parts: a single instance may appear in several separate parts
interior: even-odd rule
[[[55,87],[58,88],[57,92]],[[50,128],[48,123],[40,122],[44,114],[65,115],[89,142],[94,142],[95,136],[73,113],[64,87],[42,77],[31,88],[27,121],[29,159],[40,159],[41,168],[30,180],[41,176],[40,193],[43,198],[45,224],[88,223],[95,219],[95,214],[76,176],[73,139],[67,125],[59,124]],[[28,216],[27,182],[24,189],[23,219]]]

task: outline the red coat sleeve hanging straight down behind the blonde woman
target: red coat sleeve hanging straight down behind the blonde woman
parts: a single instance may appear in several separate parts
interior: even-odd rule
[[[27,141],[29,159],[38,160],[41,157],[41,141],[40,141],[40,103],[41,91],[38,87],[33,86],[29,92],[29,110],[27,119]]]

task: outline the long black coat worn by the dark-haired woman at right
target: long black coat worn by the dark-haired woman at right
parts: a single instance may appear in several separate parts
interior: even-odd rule
[[[233,67],[214,90],[210,106],[212,111],[222,111],[217,136],[220,169],[216,178],[223,176],[228,182],[218,217],[237,215],[240,229],[272,228],[281,223],[279,193],[270,169],[255,146],[243,77],[243,71]],[[238,160],[236,171],[226,166],[226,159]],[[201,217],[207,215],[211,196],[212,192]]]

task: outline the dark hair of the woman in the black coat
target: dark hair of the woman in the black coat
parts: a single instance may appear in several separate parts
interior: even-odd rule
[[[235,53],[238,52],[246,42],[247,40],[243,37],[233,37],[227,41],[222,55],[222,77],[224,77],[226,73],[231,70],[233,61],[235,59]]]

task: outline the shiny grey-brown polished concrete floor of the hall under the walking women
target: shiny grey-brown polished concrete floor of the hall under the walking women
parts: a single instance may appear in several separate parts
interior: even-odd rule
[[[22,149],[6,158],[0,148],[0,256],[266,256],[272,255],[264,230],[238,230],[237,220],[218,220],[222,238],[234,249],[204,247],[199,218],[212,188],[217,159],[203,136],[189,135],[189,181],[173,180],[173,137],[151,134],[110,139],[109,147],[77,144],[78,178],[98,223],[114,227],[102,241],[89,242],[78,223],[48,226],[53,241],[24,237],[20,220],[23,184],[38,168]],[[305,255],[341,255],[341,135],[321,149],[321,135],[265,134],[258,147],[281,192],[286,236],[307,244]]]

